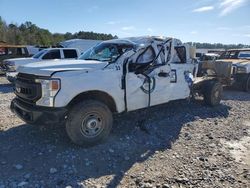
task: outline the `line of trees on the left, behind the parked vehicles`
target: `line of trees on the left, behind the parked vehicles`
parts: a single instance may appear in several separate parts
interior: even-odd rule
[[[51,46],[61,41],[75,38],[109,40],[118,37],[92,31],[67,32],[65,34],[51,33],[49,30],[40,28],[29,21],[21,23],[20,25],[13,23],[7,24],[0,16],[0,41],[8,44]]]

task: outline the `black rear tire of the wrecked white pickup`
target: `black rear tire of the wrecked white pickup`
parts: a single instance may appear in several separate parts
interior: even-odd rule
[[[203,88],[203,96],[205,104],[209,106],[217,106],[222,98],[223,87],[220,82],[207,82]]]

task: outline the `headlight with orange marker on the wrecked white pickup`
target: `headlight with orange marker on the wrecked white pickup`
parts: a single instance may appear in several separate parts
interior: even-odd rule
[[[39,106],[50,106],[54,105],[54,98],[61,88],[59,79],[43,80],[36,79],[36,83],[40,83],[42,87],[42,96],[36,102]]]

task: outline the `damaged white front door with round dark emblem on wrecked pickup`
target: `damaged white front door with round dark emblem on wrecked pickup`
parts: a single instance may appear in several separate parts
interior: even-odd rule
[[[143,56],[143,54],[137,58],[136,64],[139,67],[140,64],[141,66],[145,66],[145,61],[149,62],[150,58],[155,58],[155,53],[152,53],[152,51],[150,52],[150,50],[153,49],[149,48],[145,52],[147,58],[146,56]],[[150,69],[151,71],[148,73],[145,73],[147,72],[145,71],[142,74],[136,73],[136,70],[129,70],[126,74],[126,100],[128,111],[162,104],[169,101],[169,96],[171,94],[170,65],[158,64]]]

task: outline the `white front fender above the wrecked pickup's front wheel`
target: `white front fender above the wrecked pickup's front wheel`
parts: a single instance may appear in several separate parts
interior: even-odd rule
[[[66,107],[72,99],[83,92],[102,91],[110,95],[116,104],[117,112],[125,109],[124,90],[121,89],[121,71],[113,69],[93,72],[58,72],[53,78],[61,80],[61,89],[54,101],[55,107]]]

